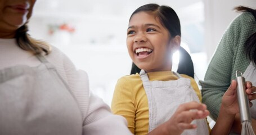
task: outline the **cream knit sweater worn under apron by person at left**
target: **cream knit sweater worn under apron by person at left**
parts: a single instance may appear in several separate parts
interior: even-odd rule
[[[90,93],[85,71],[75,69],[68,57],[55,47],[45,57],[56,67],[78,101],[83,115],[83,134],[131,134],[126,120],[122,116],[113,115],[109,106]],[[16,65],[39,64],[41,62],[37,57],[16,45],[15,39],[0,39],[0,70]]]

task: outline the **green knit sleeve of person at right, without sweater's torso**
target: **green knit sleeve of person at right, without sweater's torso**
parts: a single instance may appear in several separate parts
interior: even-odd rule
[[[206,104],[212,119],[216,120],[222,96],[230,86],[232,62],[236,42],[236,20],[224,33],[217,50],[209,63],[204,81],[200,81],[202,102]]]

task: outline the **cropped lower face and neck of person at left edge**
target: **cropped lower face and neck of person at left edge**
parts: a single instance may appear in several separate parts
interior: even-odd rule
[[[35,0],[0,0],[0,38],[14,38],[30,18]]]

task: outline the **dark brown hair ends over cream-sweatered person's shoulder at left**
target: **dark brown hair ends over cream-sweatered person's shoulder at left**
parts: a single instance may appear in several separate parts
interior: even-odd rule
[[[34,39],[30,37],[28,32],[28,25],[25,24],[16,30],[15,39],[17,45],[26,51],[31,51],[35,55],[41,54],[42,52],[46,52],[46,55],[50,53],[51,46],[46,42],[42,42],[40,40]]]

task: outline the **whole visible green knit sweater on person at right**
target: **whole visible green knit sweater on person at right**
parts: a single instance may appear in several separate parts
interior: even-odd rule
[[[256,21],[250,12],[244,12],[233,20],[225,31],[217,50],[210,61],[202,87],[202,101],[210,116],[217,119],[222,96],[235,79],[236,70],[242,73],[250,64],[244,50],[245,41],[256,32]]]

